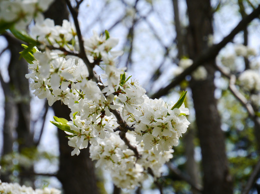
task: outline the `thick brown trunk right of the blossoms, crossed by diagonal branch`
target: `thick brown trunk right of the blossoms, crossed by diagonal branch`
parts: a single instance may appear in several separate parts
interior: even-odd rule
[[[189,16],[188,54],[194,59],[208,48],[207,37],[212,34],[212,13],[209,0],[186,0]],[[196,124],[200,140],[203,167],[203,194],[232,194],[231,178],[220,117],[214,98],[214,59],[206,64],[204,81],[191,82]]]

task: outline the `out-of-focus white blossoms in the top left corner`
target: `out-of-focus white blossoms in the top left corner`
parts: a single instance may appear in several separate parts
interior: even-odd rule
[[[33,17],[45,11],[53,0],[0,0],[0,22],[25,29]]]

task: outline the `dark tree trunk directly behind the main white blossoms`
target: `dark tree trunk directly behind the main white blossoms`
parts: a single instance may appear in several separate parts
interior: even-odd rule
[[[58,14],[57,14],[58,13]],[[68,19],[68,11],[64,0],[55,0],[44,13],[45,17],[62,25]],[[53,104],[55,116],[70,120],[70,110],[60,102]],[[98,194],[94,164],[89,158],[89,150],[83,149],[78,156],[71,156],[72,148],[68,146],[66,134],[58,129],[59,170],[57,178],[61,182],[64,194]]]

